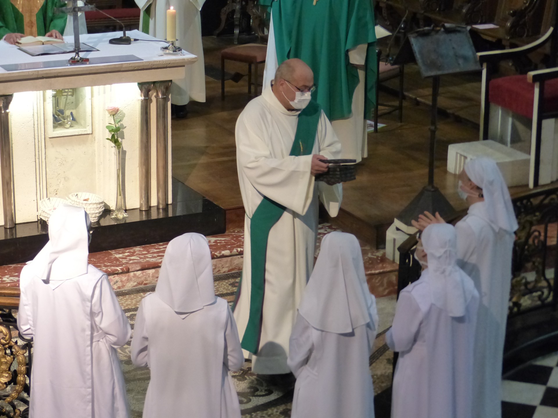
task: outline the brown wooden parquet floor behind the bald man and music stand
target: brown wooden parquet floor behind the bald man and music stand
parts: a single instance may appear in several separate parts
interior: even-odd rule
[[[219,51],[227,44],[230,45],[230,39],[204,38],[205,63],[220,67]],[[227,71],[247,74],[246,65],[235,64],[227,63]],[[475,81],[470,75],[463,79],[453,76],[443,80],[440,106],[460,117],[474,119],[480,80]],[[227,96],[222,101],[220,81],[206,76],[206,103],[191,102],[187,119],[172,120],[172,174],[219,206],[229,209],[242,205],[234,126],[250,98],[246,77],[238,84],[233,81],[225,84]],[[406,91],[427,98],[430,94],[428,85],[428,81],[420,79],[417,70],[413,71],[411,67],[407,70]],[[393,100],[391,96],[382,94],[381,101],[390,100]],[[357,180],[344,184],[342,207],[355,220],[374,227],[386,227],[425,186],[430,107],[416,103],[415,100],[405,101],[403,123],[397,122],[396,114],[388,115],[381,120],[386,127],[378,134],[368,134],[368,158],[359,164]],[[448,146],[478,140],[479,135],[474,120],[473,123],[458,120],[451,116],[439,117],[435,159],[435,184],[456,210],[463,209],[465,202],[456,192],[456,176],[446,170]],[[512,194],[526,190],[527,187],[516,187]]]

